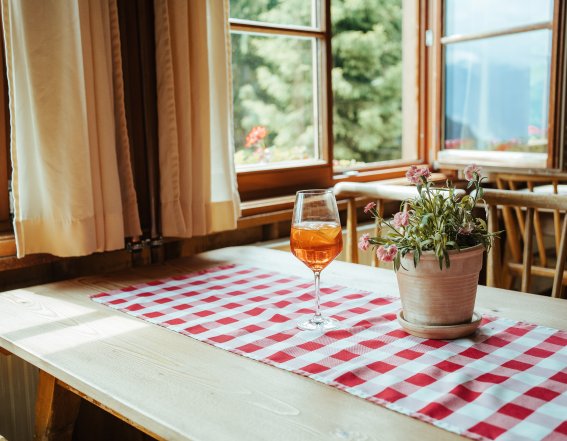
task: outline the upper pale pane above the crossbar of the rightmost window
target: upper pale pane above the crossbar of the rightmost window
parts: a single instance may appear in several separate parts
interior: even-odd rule
[[[445,35],[551,21],[553,0],[446,0]]]

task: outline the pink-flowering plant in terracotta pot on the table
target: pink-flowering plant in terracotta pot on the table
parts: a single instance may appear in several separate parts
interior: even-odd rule
[[[449,181],[446,187],[435,187],[430,175],[426,167],[408,170],[406,177],[417,186],[418,196],[402,202],[391,220],[380,217],[376,204],[369,203],[364,211],[376,218],[382,234],[365,234],[358,246],[373,247],[378,259],[393,262],[402,301],[398,318],[406,329],[408,324],[467,327],[474,322],[483,253],[494,236],[473,213],[482,199],[484,178],[478,166],[466,167],[467,190],[475,191],[463,195]]]

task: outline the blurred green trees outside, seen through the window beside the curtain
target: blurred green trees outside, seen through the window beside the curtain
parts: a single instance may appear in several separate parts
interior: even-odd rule
[[[307,0],[231,0],[231,17],[309,25]],[[401,157],[401,0],[333,0],[334,158]],[[237,164],[316,157],[311,39],[232,34]],[[262,139],[247,135],[266,128]],[[248,144],[248,145],[247,145]]]

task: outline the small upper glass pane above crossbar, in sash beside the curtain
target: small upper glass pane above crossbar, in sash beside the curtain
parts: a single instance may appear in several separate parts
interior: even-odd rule
[[[317,0],[230,0],[230,17],[316,27],[316,3]]]

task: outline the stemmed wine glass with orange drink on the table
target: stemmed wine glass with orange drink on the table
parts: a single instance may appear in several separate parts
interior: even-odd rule
[[[319,278],[321,271],[343,249],[339,210],[333,190],[302,190],[295,196],[290,235],[291,252],[315,275],[315,315],[298,324],[304,331],[328,330],[339,322],[321,315]]]

